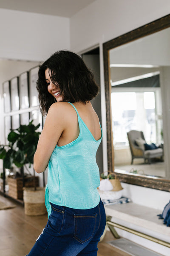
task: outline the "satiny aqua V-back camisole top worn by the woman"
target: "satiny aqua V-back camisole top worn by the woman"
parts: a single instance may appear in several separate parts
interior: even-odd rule
[[[95,140],[77,109],[74,109],[78,116],[79,136],[67,145],[56,145],[48,163],[48,184],[45,190],[48,216],[51,213],[49,202],[74,209],[90,209],[100,201],[96,151],[102,136]]]

